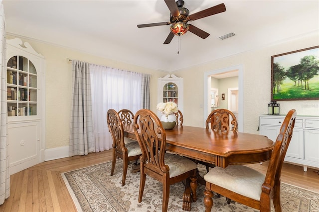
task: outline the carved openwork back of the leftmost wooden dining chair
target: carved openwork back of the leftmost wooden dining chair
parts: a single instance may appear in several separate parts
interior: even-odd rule
[[[125,151],[123,123],[116,110],[108,110],[107,122],[113,139],[113,148],[119,149],[120,151]]]

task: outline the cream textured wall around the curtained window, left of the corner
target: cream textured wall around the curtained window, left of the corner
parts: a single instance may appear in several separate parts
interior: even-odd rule
[[[7,39],[15,37],[7,36]],[[89,55],[59,46],[49,45],[20,38],[30,43],[33,49],[45,57],[45,148],[69,145],[69,125],[71,116],[71,62],[67,58],[85,61],[113,68],[152,74],[151,78],[151,109],[157,106],[157,79],[167,73],[125,64],[105,58]]]

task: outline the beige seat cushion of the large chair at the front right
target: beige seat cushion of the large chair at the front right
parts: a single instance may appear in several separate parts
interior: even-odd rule
[[[229,165],[225,169],[214,167],[205,181],[259,201],[265,175],[243,165]]]

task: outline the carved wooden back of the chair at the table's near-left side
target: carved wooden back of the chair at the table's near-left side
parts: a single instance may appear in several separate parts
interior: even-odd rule
[[[164,164],[166,133],[158,116],[151,110],[141,109],[135,114],[134,131],[142,149],[141,163],[157,174],[169,172]]]

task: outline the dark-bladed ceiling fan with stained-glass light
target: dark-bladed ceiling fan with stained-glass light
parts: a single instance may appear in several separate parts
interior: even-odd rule
[[[187,31],[190,31],[194,33],[195,35],[205,39],[206,37],[209,36],[207,32],[187,22],[226,11],[225,4],[221,3],[216,6],[212,6],[210,8],[207,8],[202,11],[189,15],[189,10],[183,7],[184,5],[183,0],[177,0],[176,2],[175,0],[164,0],[164,1],[170,11],[170,19],[168,22],[138,24],[139,28],[171,24],[170,32],[166,40],[164,41],[164,44],[170,43],[174,35],[180,36],[185,34]]]

